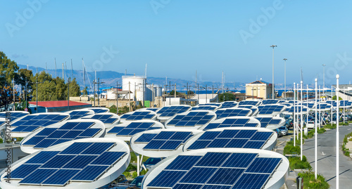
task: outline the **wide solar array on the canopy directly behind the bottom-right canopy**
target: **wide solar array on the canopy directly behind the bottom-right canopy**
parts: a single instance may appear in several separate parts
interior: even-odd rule
[[[273,132],[257,130],[223,130],[206,131],[187,150],[202,148],[253,148],[260,149],[265,145]]]

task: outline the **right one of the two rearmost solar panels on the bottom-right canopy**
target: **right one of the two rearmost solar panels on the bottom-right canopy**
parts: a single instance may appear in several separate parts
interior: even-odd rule
[[[233,153],[226,162],[222,164],[222,167],[246,168],[256,156],[257,154],[251,153]]]

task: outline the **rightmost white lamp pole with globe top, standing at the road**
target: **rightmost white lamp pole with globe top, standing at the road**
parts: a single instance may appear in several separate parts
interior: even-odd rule
[[[336,188],[339,189],[339,74],[336,75]]]

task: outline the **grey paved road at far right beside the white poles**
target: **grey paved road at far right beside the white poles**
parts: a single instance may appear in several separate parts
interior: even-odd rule
[[[339,187],[352,188],[352,158],[346,157],[341,150],[344,136],[352,132],[352,125],[339,127]],[[315,167],[315,138],[306,139],[303,155]],[[331,188],[336,188],[336,129],[318,134],[318,174],[322,174]]]

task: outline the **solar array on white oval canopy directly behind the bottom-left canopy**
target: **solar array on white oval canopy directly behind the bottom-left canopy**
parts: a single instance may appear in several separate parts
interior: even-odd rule
[[[33,145],[34,149],[48,148],[80,138],[94,137],[101,129],[91,128],[94,122],[67,122],[59,128],[44,128],[23,145]]]

